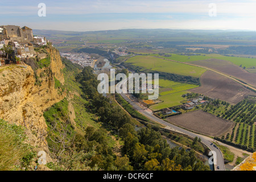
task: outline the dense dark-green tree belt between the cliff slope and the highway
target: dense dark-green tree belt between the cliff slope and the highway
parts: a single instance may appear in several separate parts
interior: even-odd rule
[[[114,160],[115,156],[109,150],[110,148],[102,148],[108,146],[105,143],[106,133],[87,127],[84,137],[77,136],[77,147],[85,149],[92,146],[91,142],[101,146],[97,148],[98,155],[94,156],[93,163],[90,165],[97,164],[104,169],[115,167],[118,170],[209,170],[208,166],[196,158],[193,150],[170,148],[160,133],[150,126],[135,131],[129,115],[111,104],[109,98],[97,92],[98,81],[93,75],[92,68],[85,67],[76,79],[82,85],[84,97],[90,101],[90,109],[98,115],[98,121],[118,133],[124,141],[123,156]],[[108,165],[106,165],[107,161]]]

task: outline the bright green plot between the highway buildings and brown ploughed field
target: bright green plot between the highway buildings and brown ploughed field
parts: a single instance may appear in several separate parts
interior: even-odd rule
[[[181,101],[184,101],[182,95],[186,94],[188,89],[196,88],[198,85],[159,79],[159,86],[158,100],[163,102],[150,106],[152,110],[181,105]]]

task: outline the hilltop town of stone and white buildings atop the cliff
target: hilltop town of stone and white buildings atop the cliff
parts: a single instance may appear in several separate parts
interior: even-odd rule
[[[33,35],[29,27],[0,26],[0,60],[1,65],[19,63],[30,57],[46,57],[45,53],[35,51],[36,47],[46,46],[45,37]]]

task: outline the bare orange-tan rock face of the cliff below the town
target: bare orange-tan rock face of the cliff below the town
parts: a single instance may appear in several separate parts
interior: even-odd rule
[[[38,69],[36,79],[32,68],[24,63],[0,67],[0,118],[30,129],[30,144],[44,146],[40,135],[46,133],[43,112],[63,100],[65,92],[55,88],[55,79],[64,83],[64,65],[57,49],[51,47],[49,67]]]

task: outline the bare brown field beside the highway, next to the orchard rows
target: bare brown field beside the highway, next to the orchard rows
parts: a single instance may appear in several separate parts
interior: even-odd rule
[[[226,121],[202,110],[175,115],[166,120],[177,126],[211,137],[223,135],[234,126],[234,122]]]

